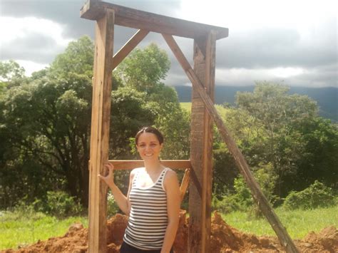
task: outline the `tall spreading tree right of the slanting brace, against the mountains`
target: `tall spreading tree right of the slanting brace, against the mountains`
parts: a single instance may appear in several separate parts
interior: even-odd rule
[[[304,95],[289,95],[289,88],[276,83],[257,83],[253,93],[237,93],[239,110],[250,115],[255,127],[251,131],[255,144],[250,155],[271,162],[277,175],[277,195],[282,196],[285,177],[295,175],[296,161],[304,150],[301,134],[295,125],[317,116],[317,104]],[[252,118],[251,118],[252,117]],[[257,149],[260,147],[259,149]],[[264,153],[257,153],[264,150]],[[255,166],[255,165],[254,165]]]

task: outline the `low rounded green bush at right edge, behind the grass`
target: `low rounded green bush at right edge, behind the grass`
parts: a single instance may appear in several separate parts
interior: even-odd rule
[[[283,206],[288,210],[306,210],[317,207],[329,207],[334,204],[335,200],[332,189],[316,180],[301,192],[290,192],[285,198]]]

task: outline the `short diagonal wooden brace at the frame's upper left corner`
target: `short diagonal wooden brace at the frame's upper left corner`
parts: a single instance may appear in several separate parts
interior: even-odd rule
[[[135,46],[138,46],[138,43],[140,43],[140,41],[142,41],[148,33],[149,31],[146,30],[138,30],[138,32],[130,38],[130,40],[113,57],[113,69],[116,68],[131,51],[133,51]]]

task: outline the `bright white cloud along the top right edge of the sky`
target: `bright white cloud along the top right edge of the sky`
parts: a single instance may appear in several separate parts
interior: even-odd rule
[[[185,19],[225,26],[232,30],[261,28],[308,29],[328,16],[337,16],[337,1],[322,0],[183,0]]]

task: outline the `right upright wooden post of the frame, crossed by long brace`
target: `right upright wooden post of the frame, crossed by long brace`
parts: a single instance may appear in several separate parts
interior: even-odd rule
[[[210,33],[194,41],[194,71],[203,81],[211,99],[215,86],[215,34]],[[189,237],[190,252],[208,252],[211,222],[212,184],[212,118],[203,100],[193,88],[191,110],[190,161],[195,176],[202,185],[202,194],[194,184],[189,190]]]

